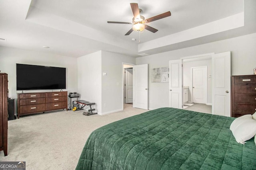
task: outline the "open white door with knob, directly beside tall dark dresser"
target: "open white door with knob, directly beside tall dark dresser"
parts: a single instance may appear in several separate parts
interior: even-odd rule
[[[212,55],[212,114],[230,116],[230,51]]]

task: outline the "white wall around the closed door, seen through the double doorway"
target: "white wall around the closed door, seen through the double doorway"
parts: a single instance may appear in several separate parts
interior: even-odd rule
[[[192,84],[191,84],[191,68],[207,66],[207,103],[212,104],[212,60],[200,60],[183,63],[183,86],[189,86],[188,101],[191,102]]]

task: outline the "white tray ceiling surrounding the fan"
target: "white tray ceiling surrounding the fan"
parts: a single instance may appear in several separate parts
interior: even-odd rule
[[[159,31],[152,33],[145,30],[140,34],[139,44],[138,32],[124,35],[132,25],[107,23],[132,22],[130,3],[138,3],[142,9],[141,15],[145,18],[167,11],[172,16],[148,23]],[[226,36],[215,33],[195,41],[138,52],[138,45],[146,45],[149,41],[241,12],[246,17],[243,0],[0,0],[0,38],[7,39],[0,41],[0,46],[70,57],[80,57],[99,50],[139,57],[139,53],[150,55],[256,32],[256,29],[252,29],[255,24],[251,24],[251,29],[237,28],[235,31],[230,30],[229,34],[225,31]],[[132,38],[136,41],[131,41]]]

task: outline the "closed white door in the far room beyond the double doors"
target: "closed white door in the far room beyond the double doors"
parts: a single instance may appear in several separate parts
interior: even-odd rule
[[[207,66],[192,68],[192,92],[194,103],[207,103]]]

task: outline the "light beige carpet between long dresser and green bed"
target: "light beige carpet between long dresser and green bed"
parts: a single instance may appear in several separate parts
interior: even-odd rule
[[[8,121],[8,156],[0,151],[0,161],[26,161],[26,170],[74,170],[92,131],[145,111],[125,104],[108,115],[61,110],[22,116]]]

